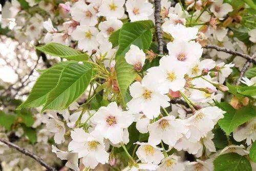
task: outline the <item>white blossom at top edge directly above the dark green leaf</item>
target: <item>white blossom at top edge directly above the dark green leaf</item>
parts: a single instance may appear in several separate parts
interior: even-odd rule
[[[125,3],[126,11],[129,13],[131,22],[138,20],[147,20],[154,12],[153,4],[141,0],[128,0]]]

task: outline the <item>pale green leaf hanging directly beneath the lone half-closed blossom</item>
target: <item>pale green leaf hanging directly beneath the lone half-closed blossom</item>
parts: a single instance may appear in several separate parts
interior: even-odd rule
[[[129,65],[124,58],[119,58],[115,65],[116,78],[124,104],[129,101],[127,89],[136,78],[136,72],[132,65]],[[128,97],[128,98],[126,98]]]

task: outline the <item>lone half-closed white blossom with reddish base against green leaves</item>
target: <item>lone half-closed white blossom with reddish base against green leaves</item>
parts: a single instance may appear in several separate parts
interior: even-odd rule
[[[145,63],[146,55],[139,47],[131,45],[130,50],[125,54],[124,58],[127,63],[133,65],[136,71],[140,71]]]

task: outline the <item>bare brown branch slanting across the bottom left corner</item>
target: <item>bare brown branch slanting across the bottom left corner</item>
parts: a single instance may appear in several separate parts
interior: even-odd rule
[[[25,148],[19,147],[18,145],[9,142],[7,140],[4,140],[2,138],[0,138],[0,141],[3,142],[4,144],[8,145],[10,148],[14,148],[17,151],[19,151],[20,153],[25,154],[26,156],[31,157],[32,159],[36,160],[38,163],[40,163],[42,166],[44,166],[45,168],[47,168],[50,171],[57,171],[55,168],[51,167],[50,165],[48,165],[44,160],[42,160],[40,157],[36,156],[35,154],[33,154],[32,152],[28,151]]]

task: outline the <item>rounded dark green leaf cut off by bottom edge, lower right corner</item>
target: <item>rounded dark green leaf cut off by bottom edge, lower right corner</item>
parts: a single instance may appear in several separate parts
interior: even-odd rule
[[[245,156],[237,153],[227,153],[214,160],[215,171],[251,171],[251,164]]]

